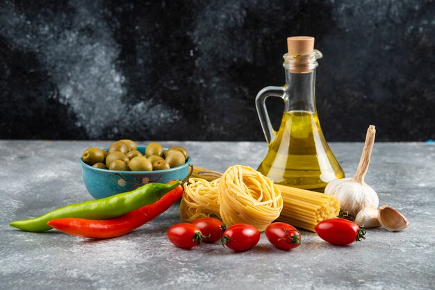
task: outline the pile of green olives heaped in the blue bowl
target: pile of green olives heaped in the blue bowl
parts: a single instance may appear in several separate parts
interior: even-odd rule
[[[142,153],[138,151],[136,143],[129,139],[113,142],[107,151],[91,147],[81,155],[83,162],[92,167],[120,171],[171,169],[185,164],[188,157],[188,151],[181,146],[165,150],[156,142],[149,143]]]

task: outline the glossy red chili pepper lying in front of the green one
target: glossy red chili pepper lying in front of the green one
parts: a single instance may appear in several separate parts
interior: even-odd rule
[[[85,238],[107,239],[120,237],[165,212],[172,204],[181,198],[182,194],[183,187],[179,185],[165,194],[160,200],[156,201],[156,203],[145,205],[138,210],[133,210],[133,212],[129,212],[115,219],[53,219],[49,221],[47,225],[51,226],[51,228],[56,228],[56,230],[60,230],[60,232]]]

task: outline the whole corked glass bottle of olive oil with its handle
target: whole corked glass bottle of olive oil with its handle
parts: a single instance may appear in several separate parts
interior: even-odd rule
[[[322,53],[314,49],[313,37],[288,37],[287,42],[286,85],[265,87],[256,96],[269,146],[257,170],[281,185],[323,192],[328,182],[345,174],[323,136],[315,108],[315,68]],[[268,96],[284,100],[278,131],[273,130],[265,106]]]

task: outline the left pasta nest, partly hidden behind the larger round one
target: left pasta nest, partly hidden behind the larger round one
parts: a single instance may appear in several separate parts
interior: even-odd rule
[[[180,205],[180,217],[183,222],[192,222],[195,219],[213,216],[220,218],[218,180],[208,182],[202,178],[189,178],[184,184],[183,198]]]

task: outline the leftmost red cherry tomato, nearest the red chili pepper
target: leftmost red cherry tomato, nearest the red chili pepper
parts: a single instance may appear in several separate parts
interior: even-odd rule
[[[190,249],[201,244],[201,230],[190,223],[177,223],[167,230],[167,239],[179,248]]]

